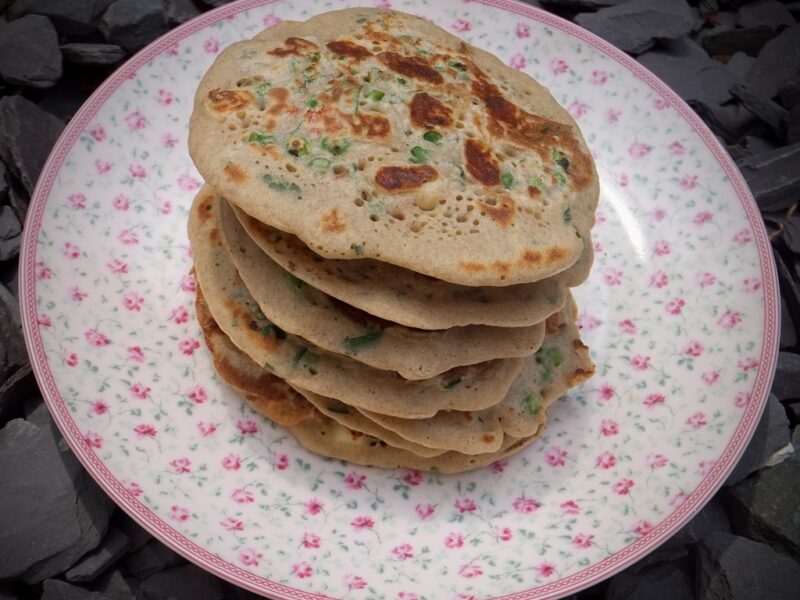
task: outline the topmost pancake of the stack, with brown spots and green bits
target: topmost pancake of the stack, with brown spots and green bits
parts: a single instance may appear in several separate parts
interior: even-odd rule
[[[198,88],[189,146],[223,196],[318,254],[461,285],[561,272],[594,223],[594,164],[547,90],[392,11],[232,45]]]

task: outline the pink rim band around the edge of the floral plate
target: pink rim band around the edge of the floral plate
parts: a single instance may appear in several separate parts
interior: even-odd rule
[[[277,598],[322,599],[331,598],[324,594],[306,592],[288,585],[272,581],[266,576],[256,575],[237,565],[225,561],[169,525],[128,492],[121,481],[105,466],[98,455],[83,441],[72,415],[66,407],[55,379],[47,362],[41,334],[37,327],[36,279],[35,263],[37,240],[41,229],[47,198],[52,190],[55,178],[63,166],[66,155],[78,141],[88,121],[97,110],[126,81],[147,62],[156,58],[169,46],[180,42],[189,35],[209,25],[232,17],[240,12],[256,7],[275,4],[282,0],[238,0],[219,8],[207,11],[194,19],[168,31],[157,38],[134,56],[129,58],[92,93],[84,102],[53,146],[41,174],[36,182],[28,207],[23,230],[22,246],[19,260],[19,302],[23,336],[39,389],[54,421],[58,425],[73,453],[114,503],[124,510],[145,530],[161,543],[171,548],[187,560],[199,565],[206,571],[226,579],[227,581],[258,594],[277,594]],[[699,116],[661,79],[640,65],[634,58],[597,35],[582,27],[553,15],[541,8],[524,4],[521,0],[464,0],[483,4],[505,12],[514,13],[533,19],[543,25],[558,29],[588,44],[620,64],[637,79],[649,85],[660,94],[667,104],[697,133],[702,142],[710,150],[717,164],[722,168],[733,186],[737,198],[745,212],[745,217],[752,228],[754,242],[758,252],[761,281],[764,290],[764,322],[763,341],[758,373],[753,385],[751,401],[745,407],[742,417],[733,432],[728,444],[722,451],[709,473],[700,484],[687,496],[675,510],[653,527],[647,535],[628,544],[603,560],[586,567],[572,575],[535,588],[514,592],[502,599],[523,600],[529,598],[554,598],[574,593],[603,581],[645,557],[685,525],[697,514],[711,497],[722,487],[739,458],[747,447],[755,432],[761,413],[769,398],[779,352],[780,307],[777,282],[777,269],[772,255],[771,245],[767,237],[766,226],[761,218],[758,206],[748,188],[744,177],[735,162],[723,148],[714,134],[708,129]],[[35,232],[35,235],[32,233]]]

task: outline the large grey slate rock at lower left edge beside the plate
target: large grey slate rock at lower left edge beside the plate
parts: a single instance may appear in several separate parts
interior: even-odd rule
[[[113,503],[55,425],[0,430],[0,578],[34,584],[71,567],[108,528]]]

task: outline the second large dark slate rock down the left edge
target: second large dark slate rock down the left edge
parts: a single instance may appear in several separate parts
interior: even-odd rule
[[[0,159],[28,194],[33,193],[39,173],[63,129],[61,121],[22,96],[0,98]]]

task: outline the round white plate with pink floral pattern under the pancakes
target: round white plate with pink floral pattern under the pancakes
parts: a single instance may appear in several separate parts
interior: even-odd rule
[[[70,123],[25,232],[25,335],[58,425],[158,538],[279,598],[554,597],[641,558],[721,485],[777,351],[774,265],[730,158],[668,88],[524,4],[377,2],[548,86],[600,172],[577,290],[597,375],[532,447],[460,476],[323,460],[214,376],[193,318],[186,150],[220,48],[351,2],[244,1],[143,50]]]

